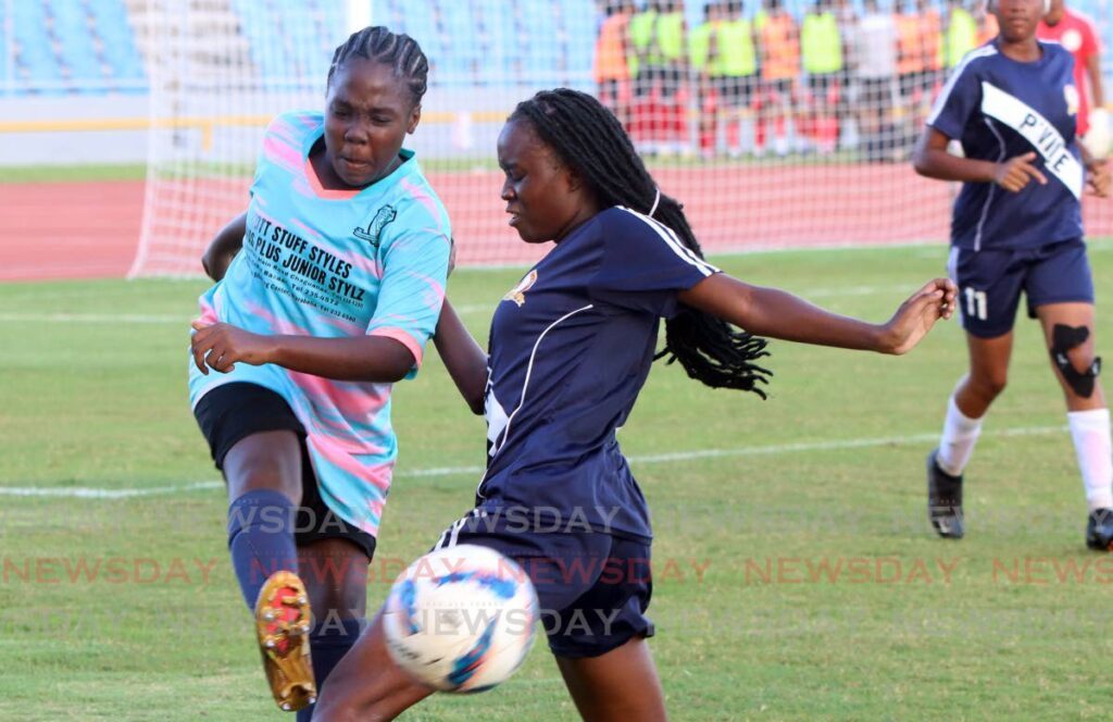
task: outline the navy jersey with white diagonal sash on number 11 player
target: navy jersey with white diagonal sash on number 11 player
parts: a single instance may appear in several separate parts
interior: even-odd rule
[[[1041,42],[1038,60],[1018,62],[995,42],[971,51],[955,68],[927,124],[962,142],[967,158],[999,163],[1035,150],[1047,185],[1032,182],[1009,193],[994,183],[963,184],[951,242],[978,251],[1081,238],[1074,59],[1062,46]]]

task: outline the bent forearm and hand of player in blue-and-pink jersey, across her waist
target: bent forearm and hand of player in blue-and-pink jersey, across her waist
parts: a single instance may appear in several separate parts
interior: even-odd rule
[[[365,335],[322,339],[306,335],[267,335],[230,323],[194,321],[189,350],[197,369],[227,373],[236,363],[274,363],[290,371],[339,381],[401,381],[413,368],[413,353],[401,341]]]

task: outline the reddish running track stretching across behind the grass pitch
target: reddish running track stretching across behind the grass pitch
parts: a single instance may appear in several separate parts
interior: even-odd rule
[[[917,177],[907,164],[657,168],[709,253],[755,248],[893,244],[947,236],[952,185]],[[453,221],[459,262],[528,264],[546,246],[523,244],[506,226],[498,172],[430,174]],[[220,188],[213,231],[246,203]],[[0,281],[122,277],[135,258],[144,183],[0,184]],[[1113,202],[1111,202],[1113,204]],[[1113,235],[1113,205],[1086,204],[1091,236]],[[647,208],[648,209],[648,208]],[[207,224],[201,224],[206,226]],[[181,238],[196,269],[207,237]]]

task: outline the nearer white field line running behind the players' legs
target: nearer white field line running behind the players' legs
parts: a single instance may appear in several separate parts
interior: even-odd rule
[[[1064,426],[1051,427],[1027,427],[1020,429],[1003,429],[999,431],[986,432],[988,437],[1020,437],[1020,436],[1042,436],[1047,433],[1063,433]],[[671,453],[651,453],[647,456],[630,457],[631,466],[638,467],[649,464],[669,464],[673,461],[692,461],[697,459],[720,459],[729,457],[748,456],[777,456],[800,453],[807,451],[837,451],[844,449],[865,449],[884,446],[908,446],[915,443],[929,443],[939,438],[938,432],[913,433],[902,437],[881,437],[874,439],[841,439],[831,441],[805,441],[799,443],[775,443],[769,446],[739,447],[736,449],[697,449],[695,451],[674,451]],[[401,468],[395,474],[398,478],[406,477],[446,477],[446,476],[476,476],[483,472],[483,468],[473,467],[431,467],[426,469]],[[181,484],[176,486],[151,487],[147,489],[93,489],[88,487],[4,487],[0,486],[0,496],[11,497],[52,497],[68,499],[126,499],[132,497],[145,497],[164,494],[178,494],[188,491],[199,491],[205,489],[216,489],[224,486],[223,481],[196,481],[193,484]]]

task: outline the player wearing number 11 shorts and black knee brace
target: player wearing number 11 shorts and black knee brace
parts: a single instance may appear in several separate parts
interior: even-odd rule
[[[951,225],[951,274],[969,370],[947,404],[927,458],[928,516],[962,538],[963,469],[989,404],[1005,388],[1021,292],[1038,318],[1066,397],[1067,421],[1090,506],[1086,545],[1113,544],[1110,413],[1094,353],[1094,284],[1082,240],[1083,188],[1109,193],[1105,165],[1076,142],[1078,90],[1071,53],[1036,39],[1043,0],[992,0],[1001,32],[955,68],[913,163],[962,180]],[[947,153],[959,140],[965,157]]]

